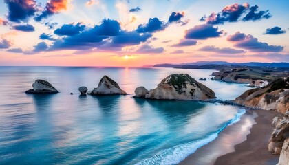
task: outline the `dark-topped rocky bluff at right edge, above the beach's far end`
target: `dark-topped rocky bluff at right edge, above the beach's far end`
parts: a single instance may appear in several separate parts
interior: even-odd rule
[[[289,111],[289,78],[278,78],[266,87],[245,91],[235,98],[235,103],[286,113]]]

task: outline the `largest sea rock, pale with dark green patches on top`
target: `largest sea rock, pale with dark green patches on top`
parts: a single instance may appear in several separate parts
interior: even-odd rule
[[[208,100],[215,97],[215,93],[197,82],[189,74],[171,74],[158,84],[156,89],[145,96],[149,99],[162,100]]]

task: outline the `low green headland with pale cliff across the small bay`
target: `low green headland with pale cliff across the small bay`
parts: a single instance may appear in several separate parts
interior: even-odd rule
[[[249,68],[224,68],[213,72],[214,80],[231,83],[250,83],[250,87],[264,87],[276,77],[270,72]]]

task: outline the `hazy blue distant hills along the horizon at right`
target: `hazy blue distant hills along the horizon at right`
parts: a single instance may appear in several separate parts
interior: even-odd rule
[[[191,68],[188,66],[190,65]],[[157,64],[153,65],[153,67],[178,67],[178,68],[185,68],[185,69],[200,69],[200,68],[193,68],[193,66],[202,66],[202,65],[233,65],[233,66],[248,66],[248,67],[268,67],[268,68],[289,68],[289,63],[258,63],[258,62],[249,62],[249,63],[228,63],[226,61],[198,61],[194,63],[181,63],[181,64]]]

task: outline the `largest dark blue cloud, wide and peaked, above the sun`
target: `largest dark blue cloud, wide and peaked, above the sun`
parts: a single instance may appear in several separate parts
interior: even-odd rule
[[[140,34],[133,31],[122,30],[116,20],[104,19],[100,25],[85,28],[79,34],[66,36],[54,41],[49,50],[120,50],[121,47],[138,45],[151,38],[152,34]]]

